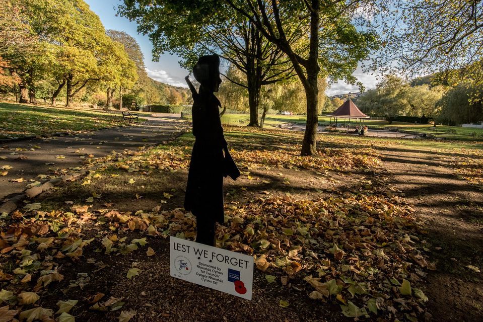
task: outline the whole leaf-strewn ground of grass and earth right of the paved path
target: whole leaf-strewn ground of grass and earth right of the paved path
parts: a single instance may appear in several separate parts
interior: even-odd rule
[[[191,134],[86,159],[86,178],[3,215],[3,298],[24,316],[77,301],[70,314],[91,321],[476,321],[483,151],[319,135],[301,157],[302,135],[225,127],[242,176],[225,179],[217,246],[254,257],[252,301],[170,277],[168,237],[195,236]]]

